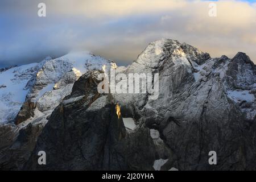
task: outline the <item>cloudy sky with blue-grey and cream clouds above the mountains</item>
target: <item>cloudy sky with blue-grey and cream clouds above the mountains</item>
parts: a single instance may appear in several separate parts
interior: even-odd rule
[[[46,4],[46,17],[38,4]],[[217,5],[210,17],[209,3]],[[170,38],[212,57],[247,53],[256,63],[255,1],[1,0],[0,67],[86,50],[127,65],[148,43]]]

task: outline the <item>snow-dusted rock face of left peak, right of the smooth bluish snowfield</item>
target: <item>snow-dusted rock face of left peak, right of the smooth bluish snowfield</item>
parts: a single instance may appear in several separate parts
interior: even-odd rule
[[[92,61],[95,62],[94,65],[91,64]],[[29,89],[29,92],[15,123],[19,124],[30,118],[36,118],[36,122],[41,120],[46,123],[46,118],[63,98],[71,93],[74,82],[82,74],[94,68],[105,68],[108,72],[113,65],[115,63],[87,52],[69,53],[56,59],[48,57],[39,63],[40,69],[27,82],[26,89]]]

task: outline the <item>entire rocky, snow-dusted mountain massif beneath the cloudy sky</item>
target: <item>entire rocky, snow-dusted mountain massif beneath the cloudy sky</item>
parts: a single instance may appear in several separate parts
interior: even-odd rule
[[[97,76],[110,68],[159,73],[158,99],[98,93]],[[256,169],[256,70],[245,53],[211,58],[162,39],[128,67],[71,53],[8,69],[0,81],[0,169]]]

